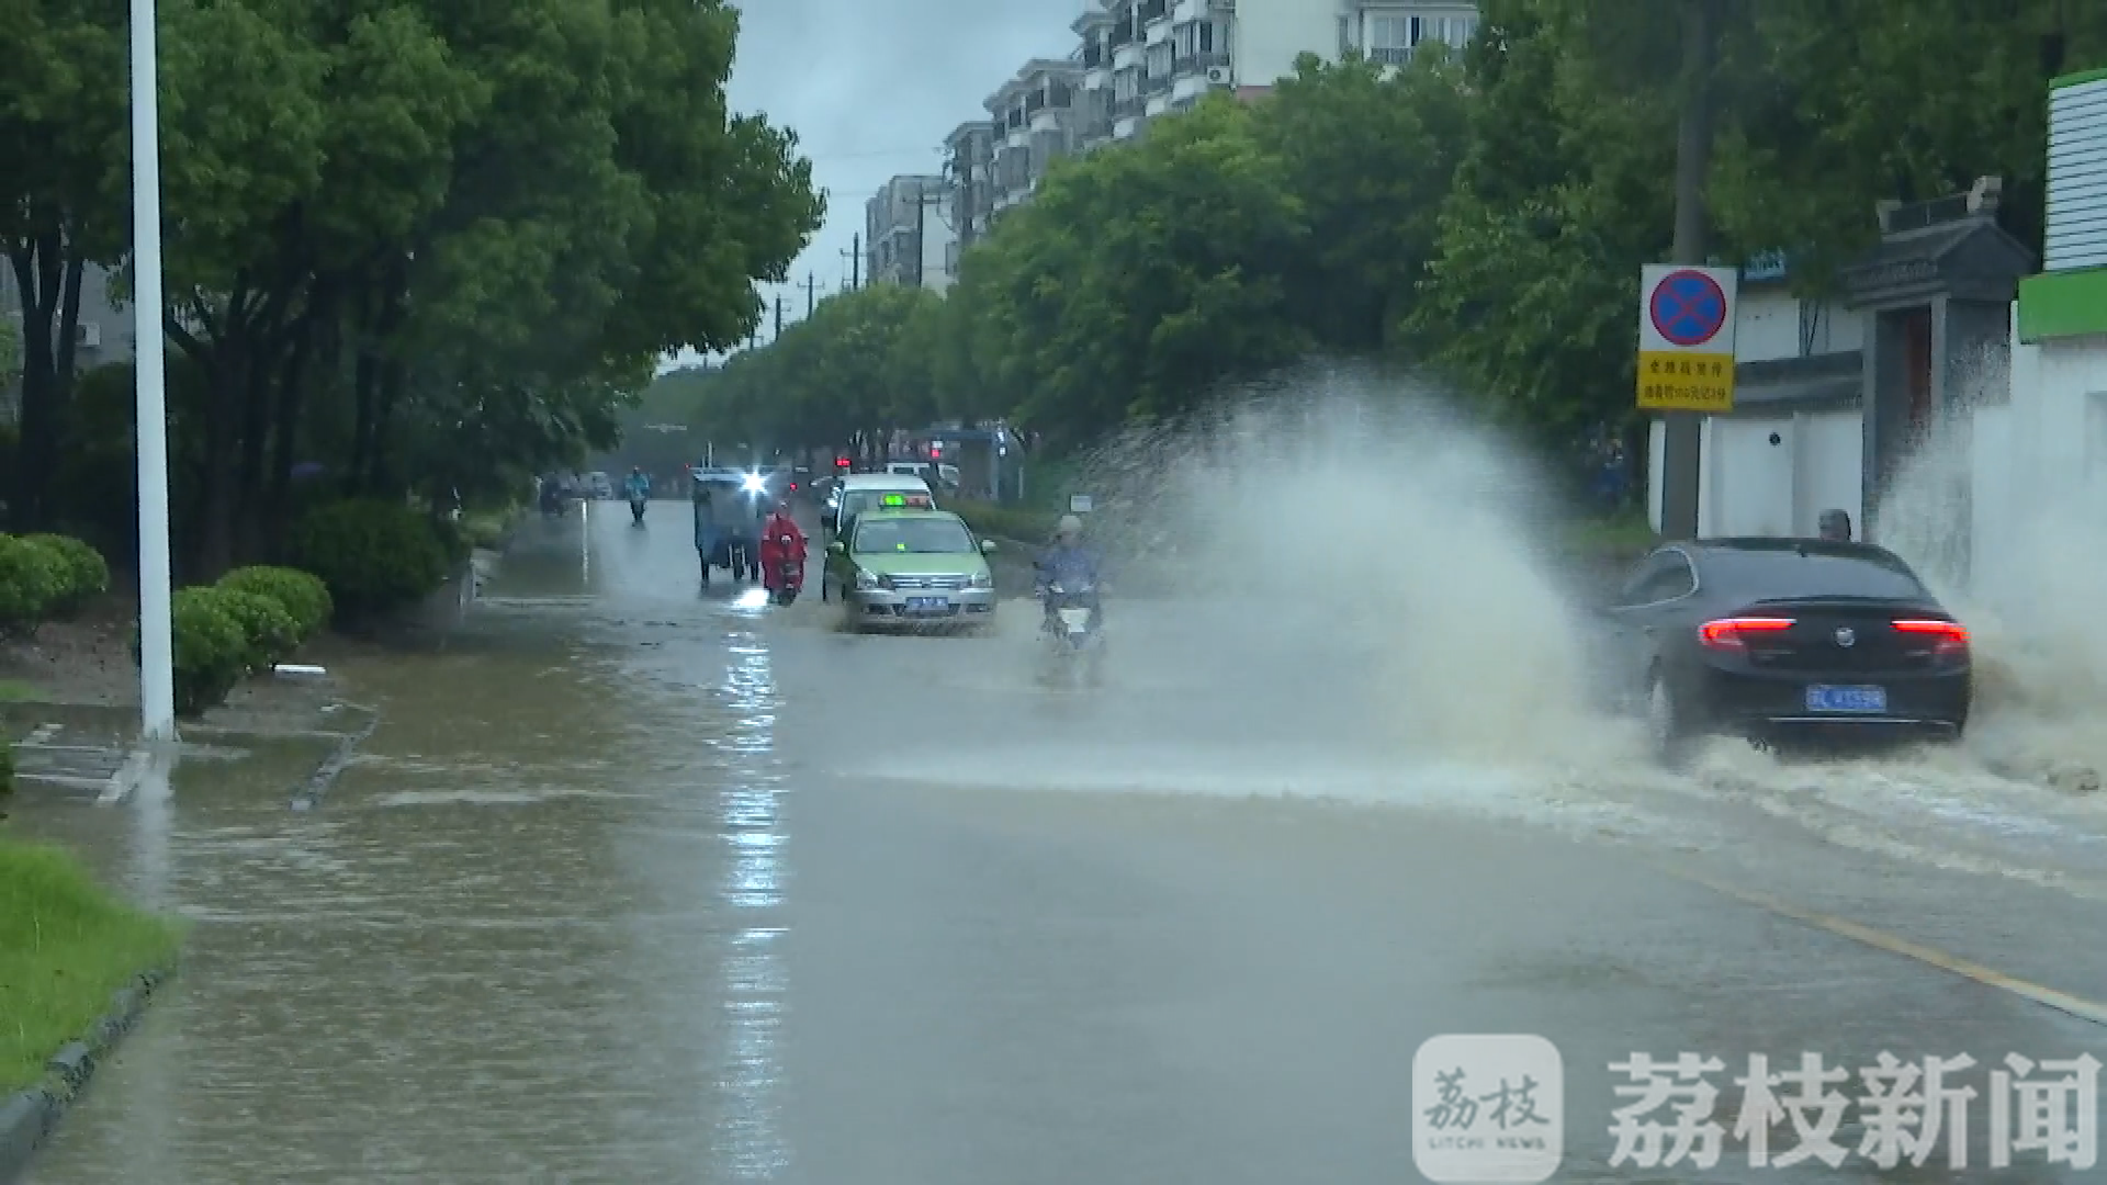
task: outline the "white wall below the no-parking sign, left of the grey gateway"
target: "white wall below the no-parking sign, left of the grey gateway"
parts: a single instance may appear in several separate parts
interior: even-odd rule
[[[1707,417],[1698,536],[1812,536],[1831,508],[1863,523],[1863,432],[1856,411]],[[1656,531],[1662,439],[1656,420],[1648,439],[1648,517]]]

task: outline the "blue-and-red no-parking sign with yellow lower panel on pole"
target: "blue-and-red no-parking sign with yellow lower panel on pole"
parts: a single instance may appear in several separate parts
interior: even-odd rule
[[[1639,409],[1734,411],[1732,268],[1639,272]]]

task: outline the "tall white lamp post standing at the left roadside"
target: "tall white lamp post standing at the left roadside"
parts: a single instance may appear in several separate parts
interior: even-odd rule
[[[169,409],[160,293],[160,103],[154,0],[131,4],[133,320],[139,377],[139,723],[175,740],[175,626],[169,574]]]

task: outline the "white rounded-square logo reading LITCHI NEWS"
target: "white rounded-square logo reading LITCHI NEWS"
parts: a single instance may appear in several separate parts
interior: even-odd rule
[[[1412,1056],[1412,1162],[1443,1185],[1536,1185],[1566,1155],[1566,1061],[1528,1033],[1443,1033]]]

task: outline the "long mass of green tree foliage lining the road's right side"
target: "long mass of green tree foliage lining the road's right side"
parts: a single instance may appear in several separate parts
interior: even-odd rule
[[[1551,447],[1629,428],[1637,276],[1673,238],[1696,2],[1485,0],[1454,55],[1304,59],[1260,101],[1150,120],[1058,162],[963,253],[944,299],[828,302],[735,356],[697,413],[818,445],[872,415],[923,426],[933,403],[1089,443],[1344,352],[1429,369]],[[2008,230],[2040,242],[2046,82],[2107,63],[2107,6],[1709,2],[1717,261],[1787,251],[1820,289],[1875,240],[1875,202],[1978,175],[2006,179]],[[889,299],[921,304],[849,314]],[[881,346],[872,327],[898,331]]]

